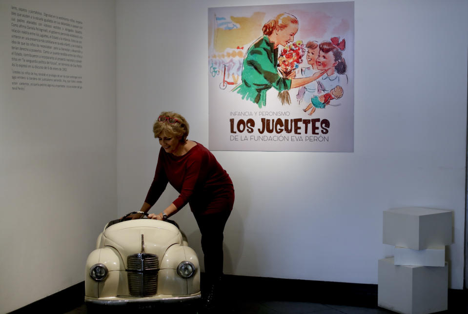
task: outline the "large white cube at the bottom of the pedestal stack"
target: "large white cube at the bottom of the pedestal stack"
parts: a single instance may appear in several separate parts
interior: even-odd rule
[[[448,264],[399,266],[393,257],[379,260],[378,305],[403,314],[427,314],[448,308]]]

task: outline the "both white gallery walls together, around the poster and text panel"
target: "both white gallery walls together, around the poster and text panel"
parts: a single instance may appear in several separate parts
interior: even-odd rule
[[[83,90],[11,90],[13,3],[84,22]],[[141,206],[162,110],[208,145],[207,8],[275,3],[0,0],[1,313],[83,280],[103,224]],[[355,1],[354,153],[214,152],[236,188],[225,273],[376,283],[382,211],[427,206],[455,213],[462,288],[467,6]],[[201,253],[188,207],[176,219]]]

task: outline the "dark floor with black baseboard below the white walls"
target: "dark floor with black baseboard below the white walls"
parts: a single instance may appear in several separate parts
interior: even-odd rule
[[[203,275],[203,274],[202,274]],[[203,277],[202,277],[203,278]],[[203,287],[202,287],[203,289]],[[203,290],[202,290],[203,291]],[[377,306],[378,287],[371,284],[336,283],[225,275],[219,306],[199,311],[197,304],[141,303],[128,306],[87,307],[84,282],[25,306],[12,314],[170,313],[170,314],[372,314],[394,313]],[[448,311],[468,314],[468,290],[448,289]]]

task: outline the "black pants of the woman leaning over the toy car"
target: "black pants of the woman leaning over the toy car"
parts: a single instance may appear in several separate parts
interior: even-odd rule
[[[222,213],[195,216],[202,234],[205,275],[208,278],[215,278],[223,275],[223,232],[230,214],[230,211],[225,211]]]

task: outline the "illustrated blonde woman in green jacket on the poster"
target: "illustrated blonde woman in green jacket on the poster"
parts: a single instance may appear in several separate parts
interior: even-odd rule
[[[301,87],[317,78],[325,71],[317,72],[311,77],[294,78],[296,73],[283,78],[278,74],[278,45],[286,46],[294,41],[299,29],[297,18],[289,13],[279,14],[263,26],[263,36],[257,39],[247,50],[242,68],[242,83],[234,88],[259,108],[266,105],[266,91],[274,87],[278,92]]]

